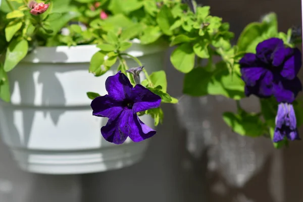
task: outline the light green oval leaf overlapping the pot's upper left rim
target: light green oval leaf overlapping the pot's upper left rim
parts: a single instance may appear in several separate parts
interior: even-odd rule
[[[10,42],[7,49],[4,71],[9,72],[26,56],[28,51],[28,42],[25,39],[15,39]]]

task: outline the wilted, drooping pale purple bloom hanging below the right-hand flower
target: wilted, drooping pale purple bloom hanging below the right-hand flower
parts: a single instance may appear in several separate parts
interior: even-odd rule
[[[276,116],[274,142],[279,142],[287,137],[290,140],[300,139],[296,128],[296,118],[291,104],[280,103]]]

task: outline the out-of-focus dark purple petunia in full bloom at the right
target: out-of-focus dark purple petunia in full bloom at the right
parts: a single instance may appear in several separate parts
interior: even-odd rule
[[[302,63],[299,49],[270,38],[259,43],[256,52],[245,54],[239,61],[246,96],[274,95],[279,103],[292,103],[302,89],[296,77]]]

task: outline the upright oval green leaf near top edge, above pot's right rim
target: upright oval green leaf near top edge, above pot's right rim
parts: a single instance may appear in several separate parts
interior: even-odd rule
[[[174,17],[171,13],[171,10],[166,5],[161,7],[161,10],[157,16],[157,23],[163,33],[166,35],[173,34],[173,31],[170,30],[170,27],[174,24]]]

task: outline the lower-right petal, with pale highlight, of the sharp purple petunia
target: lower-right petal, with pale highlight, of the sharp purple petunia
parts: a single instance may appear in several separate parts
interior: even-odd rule
[[[129,119],[129,125],[132,128],[129,137],[134,142],[142,141],[156,134],[156,131],[145,125],[136,114],[133,114],[133,118]]]

